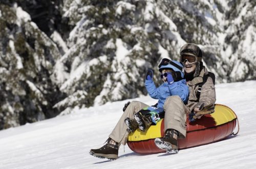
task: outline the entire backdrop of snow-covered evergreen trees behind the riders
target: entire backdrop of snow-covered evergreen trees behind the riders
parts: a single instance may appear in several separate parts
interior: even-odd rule
[[[217,82],[255,79],[256,3],[0,1],[0,129],[145,95],[144,76],[203,49]],[[26,11],[26,12],[25,12]]]

